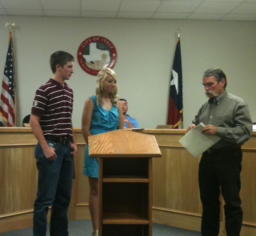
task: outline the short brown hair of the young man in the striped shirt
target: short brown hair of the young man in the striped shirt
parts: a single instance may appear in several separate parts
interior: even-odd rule
[[[64,65],[68,61],[75,61],[74,57],[65,51],[56,51],[52,53],[50,57],[50,66],[52,69],[53,74],[56,72],[56,66],[59,64],[61,67],[64,67]]]

